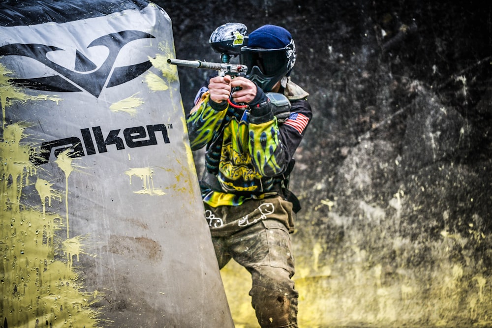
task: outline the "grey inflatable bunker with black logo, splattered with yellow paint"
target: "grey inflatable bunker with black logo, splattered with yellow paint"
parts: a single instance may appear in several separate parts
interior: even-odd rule
[[[151,2],[1,1],[2,327],[233,327],[174,57]]]

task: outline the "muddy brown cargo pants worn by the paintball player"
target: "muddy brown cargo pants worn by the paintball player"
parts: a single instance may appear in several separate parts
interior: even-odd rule
[[[285,202],[281,198],[264,200],[279,212],[289,209],[289,206],[280,206],[278,202]],[[243,204],[240,212],[243,214],[246,206],[250,212],[257,209],[260,201]],[[261,204],[260,204],[261,205]],[[270,206],[270,205],[269,205]],[[282,208],[282,209],[281,209]],[[214,215],[223,215],[224,209],[214,209],[206,205],[206,209]],[[227,207],[230,219],[234,216],[234,207]],[[289,215],[292,215],[289,213]],[[244,216],[241,216],[244,217]],[[234,221],[240,220],[236,217]],[[285,218],[283,221],[287,221]],[[245,267],[252,278],[252,287],[249,291],[251,305],[256,312],[256,318],[262,328],[297,328],[298,292],[294,289],[291,280],[294,275],[294,257],[288,229],[276,220],[264,218],[242,230],[230,233],[227,236],[212,238],[215,255],[219,268],[223,268],[230,259],[234,259]]]

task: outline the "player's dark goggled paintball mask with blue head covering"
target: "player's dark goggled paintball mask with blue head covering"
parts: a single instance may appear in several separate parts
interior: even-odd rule
[[[241,48],[241,63],[248,68],[246,77],[265,92],[290,73],[295,61],[296,47],[290,33],[273,25],[253,31],[248,45]]]

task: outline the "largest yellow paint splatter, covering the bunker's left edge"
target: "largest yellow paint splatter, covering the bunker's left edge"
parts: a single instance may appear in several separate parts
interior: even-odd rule
[[[34,145],[24,141],[28,124],[8,123],[7,109],[16,102],[52,100],[56,96],[28,95],[10,84],[11,74],[0,64],[2,108],[0,141],[0,323],[5,327],[100,327],[100,314],[91,305],[97,292],[83,292],[78,275],[62,257],[63,227],[59,213],[46,211],[53,199],[61,199],[53,184],[37,176],[31,164]],[[36,153],[31,154],[36,157]],[[63,165],[62,165],[63,166]],[[66,170],[65,174],[69,174]],[[46,173],[46,172],[44,172]],[[48,174],[48,173],[46,173]],[[21,204],[24,187],[32,184],[42,210]],[[82,246],[79,247],[82,249]],[[78,253],[77,253],[78,254]]]

